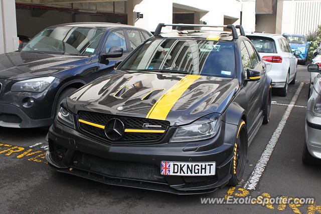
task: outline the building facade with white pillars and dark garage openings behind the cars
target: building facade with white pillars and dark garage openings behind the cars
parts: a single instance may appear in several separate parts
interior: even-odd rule
[[[17,34],[32,38],[73,22],[122,23],[150,32],[158,23],[241,24],[246,32],[305,35],[321,23],[321,0],[0,0],[0,12],[0,53],[6,53],[17,50]]]

